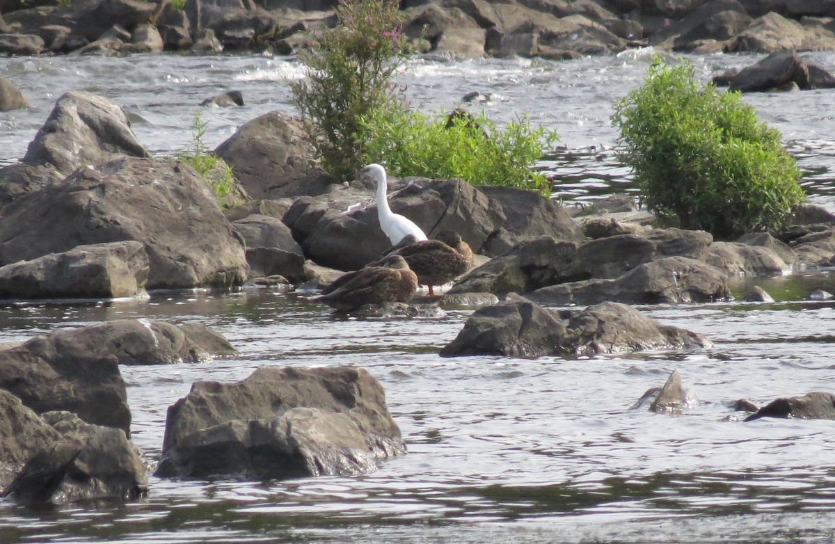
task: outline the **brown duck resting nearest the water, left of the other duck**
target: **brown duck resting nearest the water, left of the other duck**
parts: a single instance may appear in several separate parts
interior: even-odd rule
[[[417,275],[400,255],[388,255],[340,276],[316,300],[343,312],[362,305],[408,302],[417,291]]]

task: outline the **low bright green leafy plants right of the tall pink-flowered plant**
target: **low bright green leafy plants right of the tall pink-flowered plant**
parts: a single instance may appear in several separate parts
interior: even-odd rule
[[[535,189],[544,196],[551,192],[549,181],[531,166],[557,135],[531,128],[524,118],[498,130],[483,114],[429,118],[419,112],[377,110],[361,124],[363,162],[382,162],[394,176],[461,178],[471,184]]]

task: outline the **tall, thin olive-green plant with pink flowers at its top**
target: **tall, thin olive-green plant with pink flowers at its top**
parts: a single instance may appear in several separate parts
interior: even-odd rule
[[[306,78],[291,83],[293,103],[310,119],[311,142],[335,179],[363,166],[359,118],[404,108],[392,75],[406,60],[402,14],[394,0],[343,0],[337,27],[299,55]]]

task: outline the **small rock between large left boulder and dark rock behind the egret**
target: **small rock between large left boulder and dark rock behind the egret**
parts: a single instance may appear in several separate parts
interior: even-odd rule
[[[246,242],[251,277],[282,275],[293,283],[310,280],[301,246],[281,220],[252,214],[232,226]]]

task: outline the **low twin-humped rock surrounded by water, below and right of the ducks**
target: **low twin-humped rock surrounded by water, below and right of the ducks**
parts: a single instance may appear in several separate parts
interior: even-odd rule
[[[707,345],[695,333],[659,325],[626,305],[605,302],[568,312],[524,301],[476,310],[440,355],[574,357]]]

